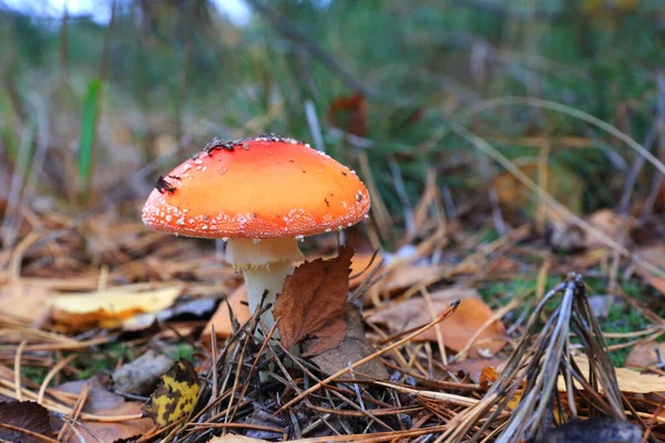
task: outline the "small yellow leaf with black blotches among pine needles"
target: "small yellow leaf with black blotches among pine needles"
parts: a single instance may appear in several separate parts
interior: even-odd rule
[[[181,359],[162,375],[160,385],[141,409],[156,424],[166,426],[194,410],[200,391],[196,370],[191,362]]]

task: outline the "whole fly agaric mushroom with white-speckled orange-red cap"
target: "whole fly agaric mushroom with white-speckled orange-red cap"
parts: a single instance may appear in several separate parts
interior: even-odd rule
[[[274,303],[301,260],[298,240],[352,226],[368,212],[369,194],[354,171],[267,134],[213,140],[157,179],[142,218],[163,233],[228,240],[226,260],[243,271],[254,312],[266,290]],[[274,324],[272,316],[263,320]]]

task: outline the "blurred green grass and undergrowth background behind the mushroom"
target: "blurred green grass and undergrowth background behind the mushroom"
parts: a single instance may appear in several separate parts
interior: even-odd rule
[[[665,158],[659,0],[238,1],[0,0],[4,247],[21,204],[135,216],[213,136],[265,132],[356,167],[379,228],[412,227],[428,181],[449,217],[538,217],[474,136],[576,214],[662,210],[653,165],[581,114]]]

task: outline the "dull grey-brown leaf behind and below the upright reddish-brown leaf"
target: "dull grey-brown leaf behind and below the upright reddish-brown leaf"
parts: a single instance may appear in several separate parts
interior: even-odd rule
[[[326,373],[334,374],[337,371],[347,368],[349,363],[355,363],[374,352],[372,347],[365,338],[365,328],[362,327],[362,317],[360,311],[354,305],[347,305],[344,319],[346,321],[346,337],[336,348],[328,349],[318,356],[311,358],[314,362]],[[308,340],[303,342],[303,350],[307,351]],[[371,375],[376,379],[387,379],[388,371],[379,359],[374,359],[356,369],[357,372]]]

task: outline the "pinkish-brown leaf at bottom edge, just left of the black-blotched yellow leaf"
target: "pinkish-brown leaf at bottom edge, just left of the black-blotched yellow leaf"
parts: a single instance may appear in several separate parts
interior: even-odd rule
[[[96,412],[96,415],[134,415],[141,413],[140,402],[126,402],[117,408],[106,409]],[[143,435],[150,431],[154,424],[150,419],[127,420],[123,422],[96,422],[81,421],[81,426],[76,430],[83,436],[85,442],[114,442],[116,440],[135,437]],[[80,443],[79,436],[75,433],[70,433],[68,443]]]

